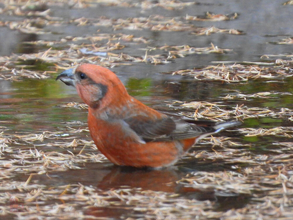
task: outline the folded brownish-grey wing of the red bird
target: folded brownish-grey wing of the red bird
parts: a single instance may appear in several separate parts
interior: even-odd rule
[[[203,133],[214,132],[209,126],[197,126],[182,118],[164,117],[150,121],[144,117],[132,117],[124,120],[130,128],[144,141],[171,141],[200,136]]]

